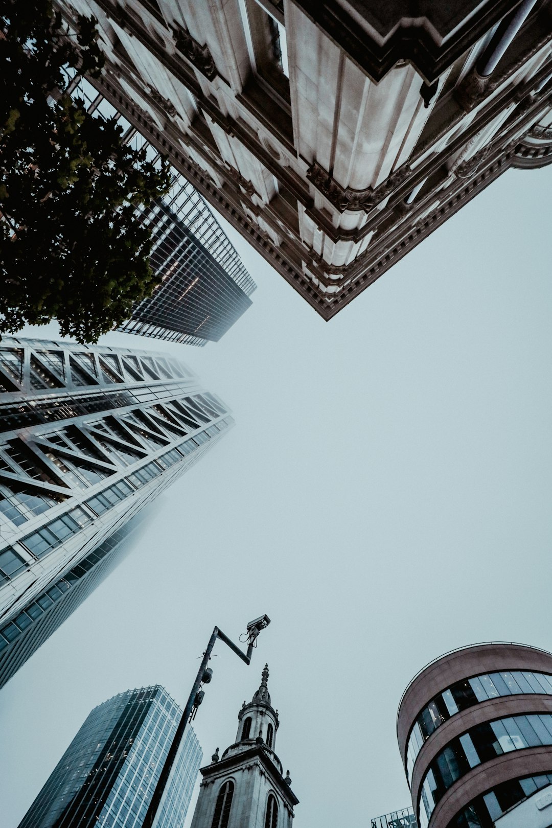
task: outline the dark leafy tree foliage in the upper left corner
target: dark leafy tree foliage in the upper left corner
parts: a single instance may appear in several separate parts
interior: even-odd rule
[[[0,333],[57,319],[95,342],[159,282],[136,205],[169,185],[113,120],[67,92],[98,77],[95,21],[71,34],[49,0],[0,0]]]

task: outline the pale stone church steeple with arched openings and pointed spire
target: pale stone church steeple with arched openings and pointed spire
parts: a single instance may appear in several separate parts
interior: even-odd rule
[[[238,713],[236,741],[201,768],[203,781],[191,828],[291,828],[299,800],[276,756],[280,721],[268,692],[268,665],[261,685]]]

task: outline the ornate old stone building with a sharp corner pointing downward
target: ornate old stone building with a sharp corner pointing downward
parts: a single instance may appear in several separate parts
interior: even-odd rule
[[[552,0],[57,0],[99,88],[329,320],[552,161]]]

